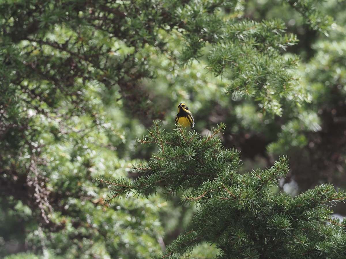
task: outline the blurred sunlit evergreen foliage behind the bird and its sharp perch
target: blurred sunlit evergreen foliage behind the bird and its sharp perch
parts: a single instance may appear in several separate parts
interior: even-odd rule
[[[164,250],[196,209],[161,194],[107,207],[109,190],[93,179],[136,179],[132,165],[155,148],[133,140],[153,119],[167,119],[171,131],[182,100],[202,135],[228,125],[222,141],[241,151],[240,172],[287,154],[298,193],[318,182],[343,187],[344,28],[325,13],[343,24],[344,2],[324,3],[322,14],[315,2],[1,4],[1,256]],[[285,49],[303,57],[300,75]],[[215,255],[202,250],[194,251]]]

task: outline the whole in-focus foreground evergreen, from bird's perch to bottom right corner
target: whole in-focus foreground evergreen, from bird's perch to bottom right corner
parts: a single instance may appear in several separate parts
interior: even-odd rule
[[[215,244],[217,258],[345,257],[346,219],[329,218],[329,204],[345,200],[346,193],[322,184],[295,198],[273,194],[270,186],[288,173],[287,158],[241,175],[238,152],[222,147],[223,130],[220,125],[201,138],[181,128],[165,133],[156,122],[138,140],[158,147],[149,162],[135,166],[143,176],[130,182],[99,179],[112,186],[107,201],[130,192],[148,196],[163,186],[167,198],[182,192],[182,203],[195,203],[191,224],[162,258],[188,257],[202,242]]]

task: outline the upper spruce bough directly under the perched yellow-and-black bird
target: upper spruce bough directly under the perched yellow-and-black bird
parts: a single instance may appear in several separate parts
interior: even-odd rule
[[[161,123],[155,121],[148,134],[137,140],[139,144],[156,144],[158,149],[150,161],[133,166],[140,175],[136,180],[97,179],[113,186],[106,202],[129,192],[148,196],[160,187],[168,198],[178,191],[199,188],[205,181],[214,181],[220,171],[234,171],[239,167],[238,152],[222,150],[218,134],[224,131],[224,124],[213,128],[212,133],[202,139],[198,133],[185,128],[177,127],[168,133],[161,128]]]

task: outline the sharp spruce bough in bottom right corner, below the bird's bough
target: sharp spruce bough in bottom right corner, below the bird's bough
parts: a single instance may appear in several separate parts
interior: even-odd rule
[[[284,256],[288,251],[296,257],[313,257],[318,233],[326,228],[330,234],[337,231],[325,225],[331,222],[326,219],[330,213],[328,202],[345,200],[346,195],[335,192],[331,185],[318,186],[295,199],[285,193],[273,195],[267,186],[274,185],[277,177],[287,172],[288,160],[280,157],[267,170],[244,175],[219,173],[213,181],[186,192],[182,202],[195,202],[199,210],[190,230],[173,241],[162,258],[188,256],[195,241],[189,238],[190,233],[198,237],[199,242],[216,243],[221,249],[219,258],[243,258],[249,253],[248,249],[263,258],[270,258],[270,254]],[[341,227],[340,223],[335,225]],[[268,245],[275,247],[274,251],[265,251]]]

